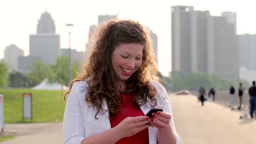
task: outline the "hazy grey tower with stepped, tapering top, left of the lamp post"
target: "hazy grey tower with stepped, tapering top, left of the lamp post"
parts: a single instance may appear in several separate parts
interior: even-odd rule
[[[30,35],[30,56],[46,64],[55,64],[60,55],[60,35],[55,33],[54,20],[45,12],[38,20],[37,33]]]

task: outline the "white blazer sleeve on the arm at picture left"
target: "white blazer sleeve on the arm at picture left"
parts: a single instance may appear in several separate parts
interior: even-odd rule
[[[65,144],[80,144],[86,137],[82,107],[78,99],[79,83],[74,83],[66,102],[63,117],[63,140]]]

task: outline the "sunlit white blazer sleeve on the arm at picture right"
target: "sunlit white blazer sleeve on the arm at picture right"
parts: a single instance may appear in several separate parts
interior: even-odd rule
[[[169,101],[169,96],[168,96],[168,94],[166,92],[166,89],[162,85],[160,85],[160,89],[161,89],[161,92],[160,92],[161,95],[164,95],[164,99],[167,101],[166,105],[164,106],[164,110],[167,113],[170,113],[172,115],[172,110],[171,110],[171,105],[170,105],[170,101]],[[172,125],[172,129],[174,131],[174,134],[176,135],[176,144],[182,144],[181,137],[177,134],[177,131],[176,131],[176,128],[175,128],[175,125],[174,125],[173,115],[172,115],[170,123]]]

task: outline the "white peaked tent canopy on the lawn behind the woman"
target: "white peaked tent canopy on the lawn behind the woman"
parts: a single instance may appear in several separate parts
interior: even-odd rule
[[[49,83],[47,79],[39,83],[37,86],[32,87],[31,89],[35,90],[66,90],[68,87],[62,86],[59,83]]]

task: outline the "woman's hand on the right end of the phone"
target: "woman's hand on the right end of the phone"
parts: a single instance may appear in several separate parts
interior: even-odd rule
[[[170,125],[171,118],[172,116],[170,113],[158,111],[152,113],[152,122],[150,122],[150,124],[158,129],[164,129]]]

